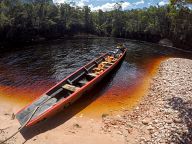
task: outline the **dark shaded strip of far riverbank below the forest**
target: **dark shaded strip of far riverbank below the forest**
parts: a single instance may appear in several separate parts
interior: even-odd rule
[[[66,40],[77,40],[77,39],[109,39],[109,38],[115,38],[111,36],[99,36],[99,35],[94,35],[94,34],[74,34],[74,35],[64,35],[64,36],[58,36],[58,37],[53,37],[53,38],[45,38],[45,37],[38,37],[37,39],[32,39],[28,41],[7,41],[7,42],[0,42],[0,52],[12,52],[16,50],[23,50],[23,49],[30,49],[31,46],[37,46],[37,45],[49,45],[53,43],[58,43],[58,42],[63,42]],[[165,47],[165,48],[170,48],[170,49],[178,49],[181,51],[186,51],[191,53],[191,47],[182,45],[182,44],[176,44],[172,42],[171,40],[167,41],[167,39],[158,39],[157,41],[150,41],[149,40],[143,40],[143,39],[137,39],[137,38],[115,38],[119,40],[129,40],[133,42],[138,42],[138,43],[146,43],[146,44],[152,44],[156,45],[157,47]]]

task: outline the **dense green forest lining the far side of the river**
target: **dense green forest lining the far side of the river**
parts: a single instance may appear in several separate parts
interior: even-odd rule
[[[50,2],[0,1],[0,48],[74,36],[129,38],[158,42],[167,38],[176,47],[192,48],[192,10],[182,4],[123,11],[91,11],[88,6]]]

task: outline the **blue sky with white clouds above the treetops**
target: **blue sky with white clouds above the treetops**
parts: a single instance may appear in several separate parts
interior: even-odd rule
[[[110,11],[117,2],[122,1],[122,9],[136,9],[149,7],[151,5],[163,6],[169,3],[169,0],[53,0],[54,3],[70,3],[74,2],[77,6],[89,6],[92,11],[103,10]]]

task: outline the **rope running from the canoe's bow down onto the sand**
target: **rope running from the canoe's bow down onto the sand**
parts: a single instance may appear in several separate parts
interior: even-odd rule
[[[2,142],[0,141],[0,144],[4,144],[6,141],[10,140],[12,137],[18,134],[29,123],[29,121],[32,119],[32,117],[34,116],[34,114],[37,112],[39,108],[40,106],[36,107],[33,113],[31,114],[31,116],[29,117],[29,119],[14,134],[12,134],[10,137],[6,138]]]

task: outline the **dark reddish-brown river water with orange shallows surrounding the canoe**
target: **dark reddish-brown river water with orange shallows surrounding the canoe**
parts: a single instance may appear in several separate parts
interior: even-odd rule
[[[147,93],[161,60],[190,57],[176,49],[124,39],[58,40],[0,55],[0,99],[24,106],[79,67],[115,48],[128,47],[125,60],[93,91],[69,107],[95,114],[132,107]]]

